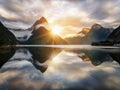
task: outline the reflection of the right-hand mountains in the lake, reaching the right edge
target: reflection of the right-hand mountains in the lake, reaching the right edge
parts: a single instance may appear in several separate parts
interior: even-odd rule
[[[116,61],[120,64],[120,49],[91,49],[91,50],[69,50],[77,54],[84,62],[90,61],[93,65],[97,66],[103,62]],[[68,52],[69,52],[68,51]]]

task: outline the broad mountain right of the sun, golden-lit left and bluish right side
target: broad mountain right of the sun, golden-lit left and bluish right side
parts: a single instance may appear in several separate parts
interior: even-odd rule
[[[112,30],[112,28],[104,28],[99,24],[94,24],[91,29],[83,28],[75,37],[65,38],[65,40],[70,44],[91,44],[106,40]]]

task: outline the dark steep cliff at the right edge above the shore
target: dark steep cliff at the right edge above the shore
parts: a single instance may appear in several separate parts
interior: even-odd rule
[[[107,38],[107,41],[120,42],[120,26],[117,27]]]

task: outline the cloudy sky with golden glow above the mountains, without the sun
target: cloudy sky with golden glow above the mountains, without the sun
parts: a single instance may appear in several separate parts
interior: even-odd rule
[[[0,0],[0,21],[7,27],[29,28],[44,16],[61,34],[73,34],[94,23],[120,25],[120,0]]]

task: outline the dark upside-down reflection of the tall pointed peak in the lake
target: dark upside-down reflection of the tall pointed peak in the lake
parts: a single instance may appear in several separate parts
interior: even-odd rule
[[[56,56],[58,53],[61,52],[60,49],[49,48],[49,47],[31,47],[27,48],[30,53],[32,54],[33,58],[33,65],[39,69],[41,72],[44,72],[47,69],[46,65],[40,65],[45,63],[47,60],[52,59],[52,57]]]

